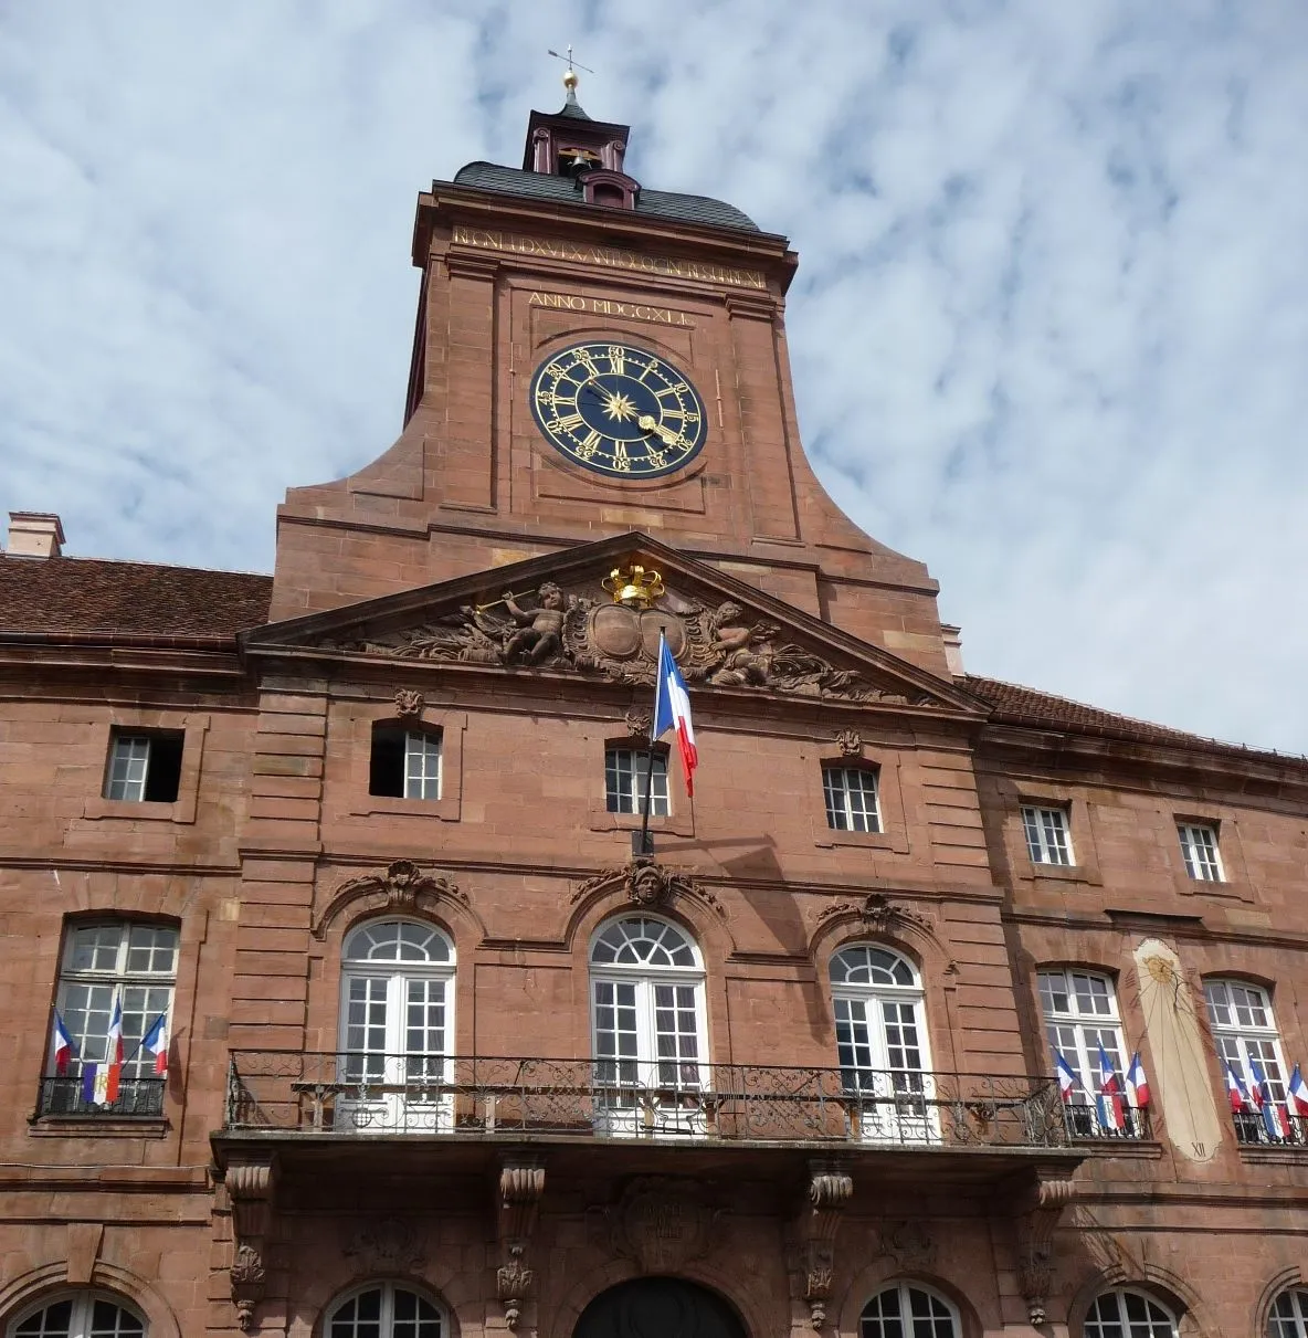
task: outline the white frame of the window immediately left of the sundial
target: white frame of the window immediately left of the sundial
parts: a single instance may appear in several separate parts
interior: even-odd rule
[[[1053,1065],[1055,1054],[1062,1054],[1077,1076],[1067,1111],[1071,1132],[1082,1137],[1118,1137],[1119,1132],[1105,1120],[1099,1108],[1101,1044],[1122,1085],[1122,1107],[1130,1108],[1126,1093],[1130,1053],[1122,1033],[1113,977],[1071,966],[1042,966],[1037,974],[1037,989],[1050,1062]],[[1066,999],[1065,1008],[1059,1008],[1059,998]],[[1134,1124],[1134,1117],[1129,1119],[1125,1132],[1133,1133]]]

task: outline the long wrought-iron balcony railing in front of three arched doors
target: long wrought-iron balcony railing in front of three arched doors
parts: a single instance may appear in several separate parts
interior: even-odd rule
[[[237,1050],[227,1129],[1066,1147],[1047,1078],[748,1064]]]

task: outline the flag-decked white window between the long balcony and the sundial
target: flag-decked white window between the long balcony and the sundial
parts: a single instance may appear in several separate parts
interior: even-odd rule
[[[1041,971],[1039,986],[1050,1062],[1057,1068],[1062,1057],[1075,1078],[1065,1097],[1070,1131],[1085,1139],[1145,1137],[1145,1116],[1125,1094],[1126,1046],[1113,981],[1091,971],[1055,969]],[[1101,1049],[1114,1080],[1107,1090]]]

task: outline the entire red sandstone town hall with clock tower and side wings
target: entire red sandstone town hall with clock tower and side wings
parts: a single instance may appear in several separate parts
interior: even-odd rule
[[[15,514],[3,1333],[1305,1338],[1308,764],[966,674],[627,134],[420,195],[271,578]]]

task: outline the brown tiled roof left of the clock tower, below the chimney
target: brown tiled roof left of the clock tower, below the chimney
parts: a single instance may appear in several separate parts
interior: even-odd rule
[[[267,622],[271,595],[273,578],[247,571],[0,557],[0,637],[234,637]]]

